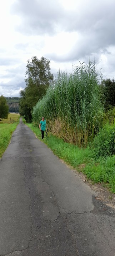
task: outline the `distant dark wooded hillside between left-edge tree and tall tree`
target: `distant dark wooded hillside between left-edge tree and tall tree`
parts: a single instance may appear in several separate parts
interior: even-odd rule
[[[6,97],[6,101],[9,106],[9,112],[19,112],[19,99],[19,97]]]

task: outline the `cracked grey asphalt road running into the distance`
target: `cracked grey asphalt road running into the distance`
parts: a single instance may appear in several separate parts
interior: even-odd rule
[[[115,256],[115,211],[22,123],[0,161],[0,256]]]

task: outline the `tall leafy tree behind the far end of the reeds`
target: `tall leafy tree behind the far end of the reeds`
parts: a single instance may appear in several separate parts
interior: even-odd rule
[[[50,60],[34,56],[26,65],[26,87],[20,91],[20,114],[27,122],[31,122],[31,111],[53,83],[54,77],[50,72]]]

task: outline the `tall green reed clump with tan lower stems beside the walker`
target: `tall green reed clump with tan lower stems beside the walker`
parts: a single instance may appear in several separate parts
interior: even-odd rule
[[[55,86],[33,108],[33,123],[44,116],[50,131],[66,142],[86,147],[103,117],[99,73],[95,63],[80,64],[69,75],[57,73]]]

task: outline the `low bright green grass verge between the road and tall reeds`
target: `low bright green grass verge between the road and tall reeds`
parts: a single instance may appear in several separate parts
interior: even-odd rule
[[[39,128],[34,127],[33,124],[27,125],[41,141],[51,148],[56,156],[77,171],[82,171],[92,183],[103,183],[112,193],[115,193],[115,156],[95,159],[93,158],[94,152],[89,147],[80,149],[51,134],[48,139],[42,140]]]

